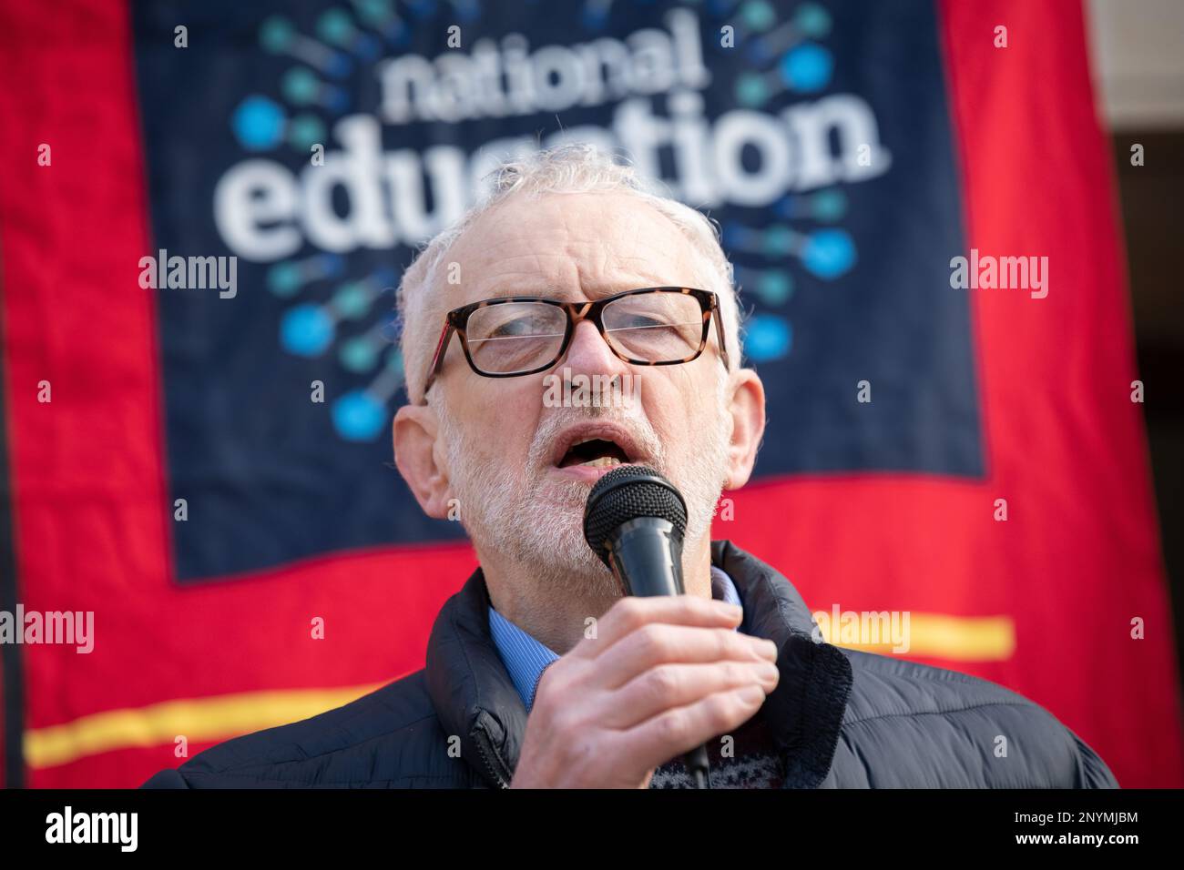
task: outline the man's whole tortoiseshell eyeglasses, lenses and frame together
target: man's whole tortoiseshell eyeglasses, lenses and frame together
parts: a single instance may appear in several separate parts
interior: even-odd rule
[[[474,372],[484,378],[516,378],[555,365],[567,353],[583,320],[592,321],[612,353],[625,362],[636,366],[690,362],[707,347],[713,316],[720,359],[727,368],[723,315],[719,297],[709,290],[648,286],[596,302],[536,296],[472,302],[445,315],[424,394],[444,365],[452,333],[461,336],[464,357]]]

